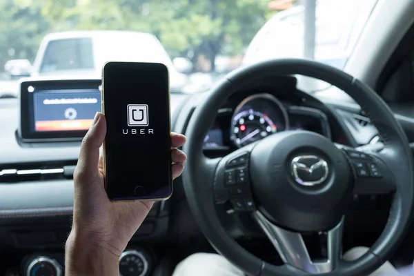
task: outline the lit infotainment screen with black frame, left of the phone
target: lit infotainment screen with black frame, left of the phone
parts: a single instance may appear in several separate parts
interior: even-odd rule
[[[101,111],[101,80],[23,81],[21,138],[26,141],[82,139]]]

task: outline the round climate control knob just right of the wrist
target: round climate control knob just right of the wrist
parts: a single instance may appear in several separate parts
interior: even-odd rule
[[[128,250],[119,258],[119,275],[144,276],[148,271],[148,262],[138,250]]]

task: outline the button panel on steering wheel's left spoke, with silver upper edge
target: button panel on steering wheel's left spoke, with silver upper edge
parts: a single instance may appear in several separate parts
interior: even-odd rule
[[[216,204],[230,201],[228,213],[256,210],[250,188],[249,157],[253,145],[240,148],[223,157],[215,173],[214,195]]]

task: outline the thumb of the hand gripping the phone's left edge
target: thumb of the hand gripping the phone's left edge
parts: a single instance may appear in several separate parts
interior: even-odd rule
[[[92,126],[83,137],[79,159],[74,173],[75,185],[95,181],[99,170],[99,148],[106,135],[105,115],[97,112]]]

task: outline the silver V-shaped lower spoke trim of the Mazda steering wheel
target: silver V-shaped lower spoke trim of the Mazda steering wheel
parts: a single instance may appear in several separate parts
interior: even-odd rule
[[[270,242],[285,264],[294,266],[311,274],[333,271],[342,254],[342,219],[339,224],[327,233],[327,258],[313,260],[300,233],[280,228],[271,223],[262,213],[256,211],[253,217],[262,228]]]

